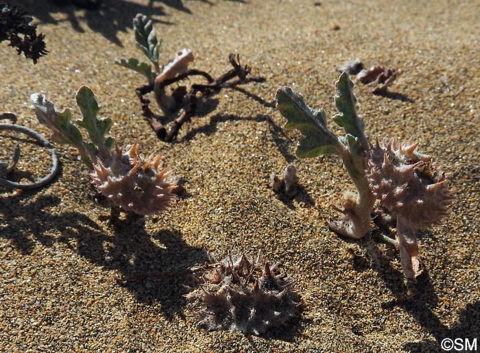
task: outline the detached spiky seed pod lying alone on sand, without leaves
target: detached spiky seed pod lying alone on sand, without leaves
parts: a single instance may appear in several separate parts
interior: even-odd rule
[[[206,310],[200,314],[199,326],[261,334],[298,317],[299,303],[290,289],[293,281],[275,274],[277,267],[270,267],[260,256],[250,262],[245,254],[228,254],[202,277]]]

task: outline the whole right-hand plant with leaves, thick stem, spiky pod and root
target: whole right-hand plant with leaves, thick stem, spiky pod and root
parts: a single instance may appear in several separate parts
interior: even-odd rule
[[[333,121],[346,132],[336,136],[328,130],[326,112],[305,104],[303,97],[289,87],[276,93],[277,108],[288,130],[304,135],[298,143],[299,158],[337,154],[357,195],[348,193],[341,207],[333,208],[342,219],[328,221],[328,226],[345,236],[360,239],[370,230],[372,210],[378,199],[396,218],[396,240],[385,240],[400,248],[400,261],[407,280],[420,274],[416,230],[439,224],[452,202],[448,179],[435,167],[432,157],[417,151],[418,143],[396,143],[388,139],[371,145],[365,136],[363,119],[357,114],[353,83],[346,72],[335,82],[335,104],[339,111]]]

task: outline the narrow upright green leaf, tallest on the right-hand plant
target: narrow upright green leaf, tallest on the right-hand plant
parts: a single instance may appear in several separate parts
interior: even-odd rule
[[[333,117],[333,121],[343,127],[347,134],[358,138],[364,149],[368,149],[368,141],[363,132],[363,119],[357,114],[357,99],[352,91],[353,86],[348,73],[341,73],[335,82],[335,105],[339,114]]]

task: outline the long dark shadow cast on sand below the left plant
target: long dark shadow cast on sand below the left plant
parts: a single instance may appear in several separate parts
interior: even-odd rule
[[[115,234],[109,235],[80,212],[52,210],[61,204],[60,197],[40,195],[32,201],[32,194],[0,197],[0,239],[25,255],[32,254],[38,243],[45,247],[64,243],[91,263],[118,271],[126,279],[120,284],[139,302],[160,302],[166,317],[182,311],[182,295],[187,293],[183,286],[193,285],[192,278],[188,273],[165,274],[206,263],[205,249],[187,245],[176,230],[149,234],[139,217],[115,219],[111,225]]]

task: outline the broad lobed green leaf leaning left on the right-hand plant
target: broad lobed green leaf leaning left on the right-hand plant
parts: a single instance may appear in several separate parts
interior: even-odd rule
[[[289,87],[279,87],[275,98],[276,108],[288,121],[285,129],[298,129],[305,136],[298,143],[298,158],[337,153],[337,136],[326,126],[325,110],[310,108],[302,95]]]

